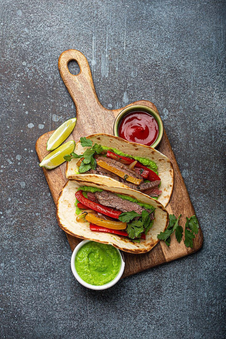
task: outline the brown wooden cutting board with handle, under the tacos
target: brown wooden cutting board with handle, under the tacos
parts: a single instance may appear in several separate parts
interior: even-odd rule
[[[78,75],[72,75],[69,72],[68,63],[71,60],[78,62],[80,67]],[[125,107],[111,110],[101,105],[96,95],[90,67],[86,57],[84,57],[84,55],[79,51],[69,49],[60,55],[58,66],[63,82],[75,103],[77,117],[76,127],[65,142],[73,139],[77,142],[81,136],[94,133],[113,134],[113,123],[115,117]],[[136,101],[126,107],[134,104],[147,105],[157,111],[155,105],[147,100]],[[52,133],[53,131],[43,134],[36,142],[36,152],[40,161],[49,153],[46,151],[46,142]],[[174,187],[170,202],[166,206],[166,209],[169,214],[175,214],[176,217],[182,214],[180,224],[184,227],[186,216],[191,217],[194,215],[195,211],[191,204],[187,188],[165,131],[163,139],[157,149],[170,159],[174,168]],[[55,204],[63,185],[67,181],[65,168],[65,163],[52,170],[43,168],[43,172],[50,187]],[[75,246],[82,239],[75,238],[67,233],[66,235],[71,246],[71,250],[73,251]],[[164,262],[184,257],[199,250],[203,244],[201,228],[199,229],[199,233],[196,235],[193,243],[193,248],[187,248],[184,245],[184,237],[179,244],[173,235],[171,236],[170,247],[167,247],[164,241],[160,241],[150,252],[145,254],[131,254],[124,252],[126,265],[123,277],[144,271],[147,268],[154,267]]]

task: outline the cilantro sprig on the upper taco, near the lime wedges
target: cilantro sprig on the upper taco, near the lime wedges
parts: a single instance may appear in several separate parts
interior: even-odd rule
[[[66,161],[71,161],[71,159],[78,159],[78,158],[84,158],[79,166],[79,173],[84,173],[86,171],[89,171],[89,169],[96,169],[97,163],[96,159],[94,158],[95,154],[100,154],[103,151],[103,148],[101,145],[98,145],[95,143],[93,145],[92,140],[87,139],[86,137],[80,138],[80,143],[82,147],[91,147],[87,148],[86,151],[83,154],[76,154],[72,152],[71,154],[66,154],[63,158]]]

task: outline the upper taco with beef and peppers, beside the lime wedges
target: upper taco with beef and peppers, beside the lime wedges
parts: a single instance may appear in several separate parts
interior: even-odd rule
[[[68,161],[66,177],[129,187],[166,206],[173,190],[173,166],[156,149],[108,135],[81,138]]]

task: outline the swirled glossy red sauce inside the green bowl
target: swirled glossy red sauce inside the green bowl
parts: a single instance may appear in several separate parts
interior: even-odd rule
[[[130,142],[151,146],[158,137],[158,123],[146,112],[131,112],[121,120],[118,136]]]

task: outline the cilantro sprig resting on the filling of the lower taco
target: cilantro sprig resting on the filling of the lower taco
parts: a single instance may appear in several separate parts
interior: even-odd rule
[[[153,212],[153,211],[152,211]],[[149,215],[152,212],[146,210],[142,211],[141,215],[135,211],[121,213],[118,217],[120,221],[127,223],[126,232],[133,241],[138,241],[141,233],[145,232],[147,235],[148,231],[153,225],[153,220],[150,219]],[[133,220],[139,218],[138,220]],[[132,220],[132,221],[131,221]],[[135,239],[135,240],[134,240]]]

